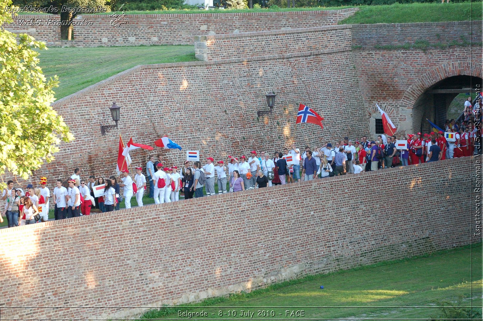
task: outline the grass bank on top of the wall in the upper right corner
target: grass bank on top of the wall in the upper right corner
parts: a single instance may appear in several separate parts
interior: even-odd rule
[[[415,23],[482,20],[482,2],[459,3],[395,3],[392,5],[360,6],[344,24]]]

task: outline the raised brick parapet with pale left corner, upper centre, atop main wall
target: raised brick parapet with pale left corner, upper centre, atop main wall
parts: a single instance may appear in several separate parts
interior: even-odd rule
[[[350,50],[351,26],[327,26],[195,37],[200,60],[270,56],[294,52]]]

